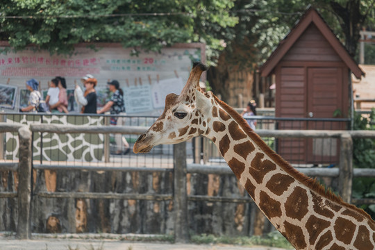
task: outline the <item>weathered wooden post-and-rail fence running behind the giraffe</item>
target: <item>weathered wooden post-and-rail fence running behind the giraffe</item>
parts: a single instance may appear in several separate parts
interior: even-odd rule
[[[207,166],[186,163],[185,143],[174,145],[174,169],[165,168],[137,168],[137,167],[90,167],[90,166],[56,166],[32,165],[32,136],[37,132],[48,133],[124,133],[141,134],[147,130],[140,126],[62,126],[54,124],[22,124],[0,123],[0,133],[17,132],[19,135],[19,163],[0,163],[0,170],[17,170],[19,185],[17,192],[0,192],[1,198],[15,198],[18,200],[17,238],[28,239],[31,237],[31,193],[32,168],[34,169],[74,169],[88,171],[144,171],[174,173],[174,190],[172,194],[115,194],[98,192],[37,192],[33,196],[47,198],[85,198],[85,199],[135,199],[174,201],[174,236],[176,242],[188,241],[188,202],[231,202],[249,203],[247,198],[209,197],[188,195],[186,192],[186,174],[233,174],[227,166]],[[340,164],[336,168],[297,168],[308,176],[329,176],[338,178],[338,190],[344,201],[354,204],[375,203],[375,199],[351,199],[353,177],[375,176],[375,169],[353,169],[353,142],[352,138],[375,138],[375,131],[265,131],[259,130],[261,137],[274,138],[339,138],[340,139]]]

